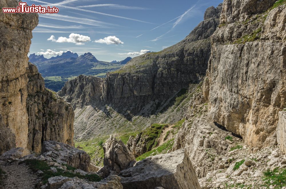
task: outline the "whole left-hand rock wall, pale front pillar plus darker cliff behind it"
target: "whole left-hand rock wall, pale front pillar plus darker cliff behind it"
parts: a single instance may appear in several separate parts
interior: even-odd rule
[[[3,0],[0,5],[16,7],[18,1]],[[28,65],[37,24],[37,14],[0,12],[0,154],[15,147],[40,152],[44,140],[73,145],[72,107],[45,89],[37,68]]]

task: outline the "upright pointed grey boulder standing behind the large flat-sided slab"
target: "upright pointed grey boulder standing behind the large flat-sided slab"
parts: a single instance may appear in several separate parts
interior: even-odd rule
[[[133,167],[136,163],[135,157],[121,140],[116,140],[114,136],[103,145],[104,167],[99,170],[105,178],[109,174],[118,174],[120,171]]]

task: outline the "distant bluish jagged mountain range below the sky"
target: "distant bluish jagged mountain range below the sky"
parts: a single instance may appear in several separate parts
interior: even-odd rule
[[[78,56],[77,53],[67,51],[62,55],[45,58],[43,55],[31,54],[29,61],[35,64],[43,77],[60,76],[64,78],[78,75],[99,75],[119,69],[131,60],[127,57],[122,61],[105,62],[99,61],[92,53]]]

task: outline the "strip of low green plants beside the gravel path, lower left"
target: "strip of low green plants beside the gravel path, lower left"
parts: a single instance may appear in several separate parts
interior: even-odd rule
[[[76,176],[78,178],[86,179],[88,181],[93,181],[93,182],[98,182],[98,181],[102,180],[102,178],[100,178],[97,174],[81,175],[79,173],[72,173],[72,172],[68,172],[68,171],[63,171],[61,169],[57,169],[57,172],[52,172],[50,170],[51,166],[49,166],[47,164],[47,162],[41,161],[41,160],[27,159],[21,163],[27,164],[33,172],[37,172],[38,170],[41,170],[43,172],[43,174],[41,175],[42,180],[43,180],[43,184],[47,183],[47,180],[51,177],[54,177],[54,176],[66,176],[69,178]],[[73,170],[73,169],[75,170],[76,168],[69,166],[68,169],[69,170]]]

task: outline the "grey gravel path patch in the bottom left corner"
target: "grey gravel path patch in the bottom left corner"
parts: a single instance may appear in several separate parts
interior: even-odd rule
[[[4,186],[0,186],[1,189],[33,189],[40,181],[40,178],[25,164],[11,163],[1,166],[1,169],[6,172]]]

